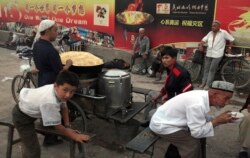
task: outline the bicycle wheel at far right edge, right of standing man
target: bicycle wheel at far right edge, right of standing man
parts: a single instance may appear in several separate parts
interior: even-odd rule
[[[244,59],[229,59],[221,68],[221,78],[244,88],[250,83],[250,65]]]

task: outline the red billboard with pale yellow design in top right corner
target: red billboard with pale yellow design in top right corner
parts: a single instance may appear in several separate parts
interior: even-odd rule
[[[218,0],[216,19],[235,38],[234,44],[250,47],[250,1]]]

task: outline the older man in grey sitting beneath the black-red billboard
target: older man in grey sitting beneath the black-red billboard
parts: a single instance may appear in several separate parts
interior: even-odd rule
[[[139,29],[139,36],[136,38],[134,46],[133,46],[133,54],[131,58],[131,68],[135,63],[136,58],[142,57],[142,66],[145,69],[145,73],[147,70],[147,59],[149,56],[149,47],[150,47],[150,40],[147,36],[145,36],[145,29]]]

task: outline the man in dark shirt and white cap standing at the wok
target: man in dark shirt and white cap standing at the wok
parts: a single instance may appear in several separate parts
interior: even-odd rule
[[[33,46],[33,59],[38,71],[38,87],[53,84],[56,76],[62,70],[68,70],[72,65],[72,60],[67,60],[65,66],[62,65],[59,52],[51,42],[57,37],[57,24],[53,20],[42,20],[38,27],[40,38]],[[62,141],[54,135],[45,135],[44,146],[56,145]]]

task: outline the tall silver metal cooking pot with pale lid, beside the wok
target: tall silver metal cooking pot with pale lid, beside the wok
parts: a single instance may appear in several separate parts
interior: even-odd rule
[[[126,71],[112,69],[101,73],[98,93],[106,96],[109,108],[131,105],[131,76]]]

